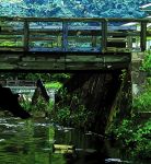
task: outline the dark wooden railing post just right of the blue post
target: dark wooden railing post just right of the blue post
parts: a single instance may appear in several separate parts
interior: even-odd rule
[[[106,51],[107,48],[107,20],[104,19],[102,22],[102,52]]]

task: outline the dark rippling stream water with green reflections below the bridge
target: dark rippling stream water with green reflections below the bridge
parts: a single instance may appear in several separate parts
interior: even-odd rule
[[[0,164],[101,163],[133,162],[91,132],[82,133],[48,119],[0,118]]]

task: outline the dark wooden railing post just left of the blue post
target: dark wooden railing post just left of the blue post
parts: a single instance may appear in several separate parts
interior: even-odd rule
[[[28,51],[28,39],[30,39],[30,23],[24,22],[24,51]]]

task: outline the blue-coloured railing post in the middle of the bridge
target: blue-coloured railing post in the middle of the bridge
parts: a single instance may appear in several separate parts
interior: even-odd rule
[[[62,22],[62,50],[68,50],[68,22]]]

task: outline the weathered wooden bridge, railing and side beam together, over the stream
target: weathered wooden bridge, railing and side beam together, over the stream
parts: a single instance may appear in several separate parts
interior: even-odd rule
[[[135,22],[137,25],[126,25]],[[0,70],[127,68],[144,51],[151,19],[0,17]]]

